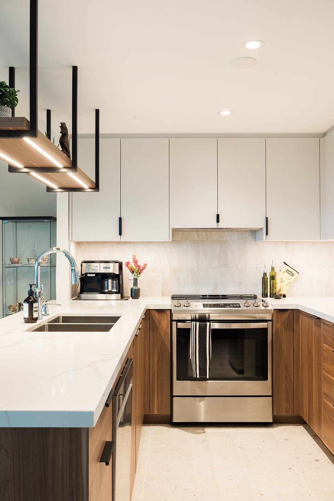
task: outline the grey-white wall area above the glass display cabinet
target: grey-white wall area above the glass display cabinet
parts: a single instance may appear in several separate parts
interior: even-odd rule
[[[26,174],[11,174],[0,160],[0,216],[56,216],[56,193]]]

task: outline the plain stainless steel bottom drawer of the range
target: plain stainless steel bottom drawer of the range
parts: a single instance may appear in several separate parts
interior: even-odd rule
[[[272,397],[173,397],[173,423],[272,422]]]

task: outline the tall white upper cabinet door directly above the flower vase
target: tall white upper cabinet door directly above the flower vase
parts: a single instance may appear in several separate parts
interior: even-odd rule
[[[168,139],[121,139],[121,240],[169,240]]]

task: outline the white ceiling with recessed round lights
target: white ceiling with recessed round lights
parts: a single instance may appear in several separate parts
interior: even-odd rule
[[[28,5],[2,0],[0,19],[0,79],[16,66],[25,100]],[[332,0],[40,0],[40,113],[70,128],[77,65],[79,133],[94,132],[94,108],[106,134],[322,133],[334,124],[333,23]],[[265,46],[241,48],[251,39]],[[241,56],[257,64],[233,68]]]

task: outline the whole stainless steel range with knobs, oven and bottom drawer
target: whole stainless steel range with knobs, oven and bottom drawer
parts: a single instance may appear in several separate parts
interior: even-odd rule
[[[172,296],[172,421],[272,421],[272,306],[255,295]],[[210,323],[209,377],[190,359],[192,322]]]

